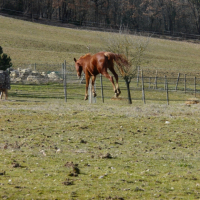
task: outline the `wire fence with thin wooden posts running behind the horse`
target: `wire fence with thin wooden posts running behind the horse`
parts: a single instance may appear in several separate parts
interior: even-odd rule
[[[27,98],[57,98],[83,100],[85,97],[85,79],[77,78],[74,66],[64,64],[30,64],[28,69],[11,72],[10,96]],[[166,84],[167,83],[167,84]],[[124,79],[119,77],[121,95],[118,100],[128,100],[128,92]],[[117,100],[111,82],[98,75],[95,82],[97,97],[93,98],[89,89],[89,102],[106,102]],[[200,96],[200,78],[180,75],[178,77],[148,77],[141,73],[130,83],[132,100],[186,101],[189,97]]]

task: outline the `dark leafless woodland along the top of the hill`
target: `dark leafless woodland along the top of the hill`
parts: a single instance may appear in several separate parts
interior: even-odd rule
[[[200,34],[200,0],[0,0],[0,8],[76,25]]]

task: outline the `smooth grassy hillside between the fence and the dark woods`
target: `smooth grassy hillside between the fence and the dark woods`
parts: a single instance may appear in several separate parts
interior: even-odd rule
[[[107,34],[97,31],[41,25],[0,16],[0,45],[19,63],[73,64],[73,58],[104,50]],[[200,44],[151,38],[143,68],[193,74],[200,66]]]

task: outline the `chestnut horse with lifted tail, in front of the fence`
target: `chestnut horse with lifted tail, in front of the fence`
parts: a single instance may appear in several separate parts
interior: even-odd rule
[[[99,52],[94,55],[86,54],[84,56],[81,56],[78,60],[74,58],[75,61],[75,68],[77,71],[77,76],[80,78],[82,71],[85,73],[85,79],[86,79],[86,88],[85,88],[85,100],[88,99],[88,85],[90,78],[92,76],[92,93],[93,96],[96,97],[96,92],[94,90],[94,82],[96,79],[96,76],[98,74],[102,74],[107,79],[109,79],[113,85],[113,90],[115,92],[115,96],[118,97],[121,93],[118,85],[118,75],[114,70],[114,62],[120,67],[122,64],[128,64],[127,59],[121,55],[121,54],[115,54],[111,52]],[[112,74],[115,77],[116,80],[116,86],[113,80],[113,77],[110,76],[107,72],[107,70],[110,70]]]

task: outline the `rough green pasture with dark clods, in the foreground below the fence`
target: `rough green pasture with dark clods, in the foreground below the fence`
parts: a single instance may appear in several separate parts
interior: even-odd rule
[[[13,85],[9,95],[0,103],[1,199],[200,198],[199,104],[182,101],[191,95],[175,92],[169,106],[150,100],[162,92],[132,105],[89,104],[81,93],[65,102],[58,85]]]

